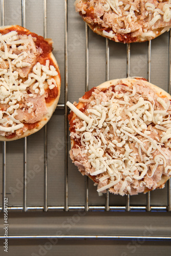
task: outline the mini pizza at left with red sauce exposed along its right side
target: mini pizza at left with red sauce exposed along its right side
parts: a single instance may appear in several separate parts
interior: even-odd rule
[[[16,25],[0,27],[0,46],[0,140],[16,140],[51,118],[60,73],[51,39]]]

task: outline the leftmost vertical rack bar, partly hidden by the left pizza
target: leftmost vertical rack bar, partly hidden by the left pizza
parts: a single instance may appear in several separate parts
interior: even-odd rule
[[[1,25],[5,25],[4,18],[4,0],[1,0]],[[6,141],[3,142],[3,211],[4,200],[6,198]]]

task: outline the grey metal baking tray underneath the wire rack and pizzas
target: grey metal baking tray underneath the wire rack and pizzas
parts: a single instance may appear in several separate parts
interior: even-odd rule
[[[9,255],[169,255],[170,180],[146,195],[98,196],[69,158],[65,103],[127,76],[145,77],[170,93],[170,32],[149,42],[116,43],[89,30],[69,0],[1,0],[1,24],[52,38],[62,81],[45,128],[0,142],[0,222],[8,197]]]

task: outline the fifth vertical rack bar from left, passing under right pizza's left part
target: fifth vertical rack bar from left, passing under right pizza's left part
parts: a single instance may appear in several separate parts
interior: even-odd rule
[[[86,24],[85,92],[89,91],[89,27]],[[85,176],[85,210],[89,210],[89,177]]]

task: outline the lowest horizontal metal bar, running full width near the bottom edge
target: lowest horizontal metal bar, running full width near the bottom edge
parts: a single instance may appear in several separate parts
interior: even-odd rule
[[[8,239],[112,239],[112,240],[145,240],[145,241],[150,241],[150,240],[171,240],[171,237],[158,237],[158,236],[9,236]],[[0,239],[4,239],[3,236],[0,236]]]

